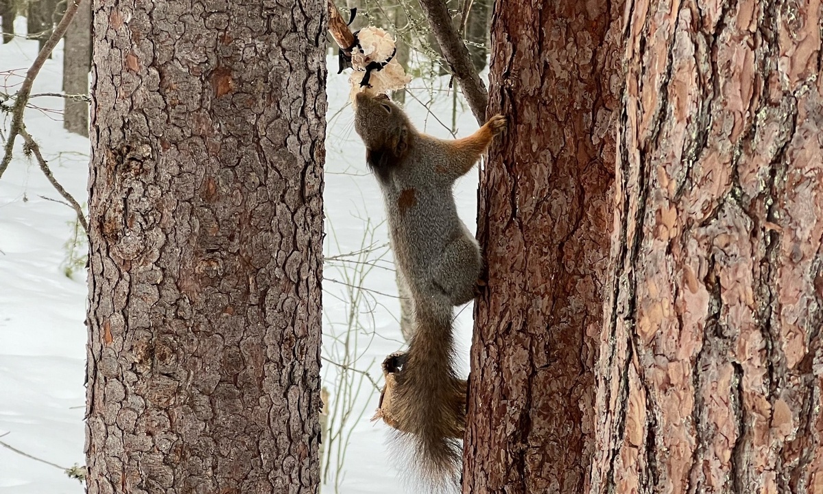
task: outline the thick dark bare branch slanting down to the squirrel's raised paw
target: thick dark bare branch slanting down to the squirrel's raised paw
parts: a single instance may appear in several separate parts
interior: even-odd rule
[[[444,0],[420,0],[425,16],[429,19],[431,32],[435,35],[443,57],[449,63],[454,78],[458,80],[463,96],[468,101],[477,123],[486,123],[486,105],[489,102],[489,93],[483,84],[477,69],[474,68],[472,58],[466,44],[454,29],[449,8]]]

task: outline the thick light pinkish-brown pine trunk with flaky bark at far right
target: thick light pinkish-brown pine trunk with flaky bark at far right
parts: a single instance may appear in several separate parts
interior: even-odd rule
[[[820,2],[627,13],[591,492],[823,492]]]

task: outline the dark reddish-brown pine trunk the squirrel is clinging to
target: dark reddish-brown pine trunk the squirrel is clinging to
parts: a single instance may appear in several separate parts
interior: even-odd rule
[[[611,220],[621,2],[498,2],[463,492],[581,492]]]

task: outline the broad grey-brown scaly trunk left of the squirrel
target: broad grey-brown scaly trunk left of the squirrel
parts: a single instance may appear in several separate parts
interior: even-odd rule
[[[88,492],[316,492],[326,3],[94,12]]]

